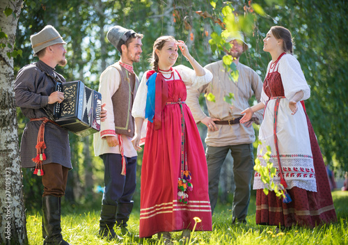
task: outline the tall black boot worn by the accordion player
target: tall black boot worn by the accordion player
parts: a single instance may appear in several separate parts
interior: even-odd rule
[[[46,235],[44,245],[70,245],[62,237],[61,229],[61,198],[56,196],[42,197],[42,218]]]

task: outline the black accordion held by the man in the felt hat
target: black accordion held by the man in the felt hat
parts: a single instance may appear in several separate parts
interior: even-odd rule
[[[54,105],[54,120],[58,125],[83,137],[100,131],[100,93],[82,81],[58,83],[57,90],[64,93],[63,102]]]

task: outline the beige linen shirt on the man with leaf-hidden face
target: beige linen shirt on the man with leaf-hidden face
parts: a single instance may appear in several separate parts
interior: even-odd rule
[[[238,81],[231,81],[228,73],[223,68],[223,61],[217,61],[205,66],[212,72],[212,81],[198,89],[189,89],[187,91],[187,105],[191,109],[193,118],[196,123],[203,120],[207,115],[200,108],[198,97],[200,93],[206,95],[212,93],[215,96],[215,102],[205,100],[210,118],[219,118],[220,120],[229,120],[242,116],[242,111],[250,105],[248,101],[253,95],[260,102],[262,92],[262,81],[258,74],[242,63],[238,63],[239,71]],[[234,94],[234,100],[231,104],[225,102],[223,98],[230,93]],[[262,121],[263,110],[254,114]],[[253,143],[255,141],[255,132],[253,127],[246,127],[239,123],[234,125],[216,125],[217,131],[207,132],[205,143],[209,146],[219,147],[226,145],[240,145]]]

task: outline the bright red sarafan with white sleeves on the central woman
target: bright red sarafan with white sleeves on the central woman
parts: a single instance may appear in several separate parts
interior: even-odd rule
[[[191,75],[188,74],[190,72]],[[175,68],[173,75],[164,73],[165,78],[171,79],[166,80],[168,100],[161,111],[161,129],[155,129],[155,123],[148,122],[141,168],[140,237],[151,237],[164,231],[192,230],[194,217],[202,220],[197,223],[196,230],[212,230],[207,161],[196,122],[184,103],[187,86],[203,86],[212,79],[212,75],[209,72],[203,77],[195,77],[193,70],[183,65]],[[145,109],[145,97],[141,99],[144,94],[146,96],[148,88],[145,85],[148,79],[145,77],[146,73],[139,86],[138,98],[134,102],[134,117],[141,117]],[[137,114],[136,111],[141,113]],[[192,191],[187,191],[187,203],[178,200],[182,150],[193,184]]]

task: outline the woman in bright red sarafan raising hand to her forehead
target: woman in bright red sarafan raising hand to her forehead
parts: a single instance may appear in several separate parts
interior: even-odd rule
[[[193,70],[177,65],[177,50]],[[159,233],[170,240],[172,231],[189,237],[196,230],[212,230],[207,161],[200,135],[185,100],[187,88],[212,80],[189,54],[187,45],[172,36],[157,38],[152,70],[145,72],[134,100],[136,132],[132,142],[139,149],[143,119],[148,118],[141,168],[140,237]]]

